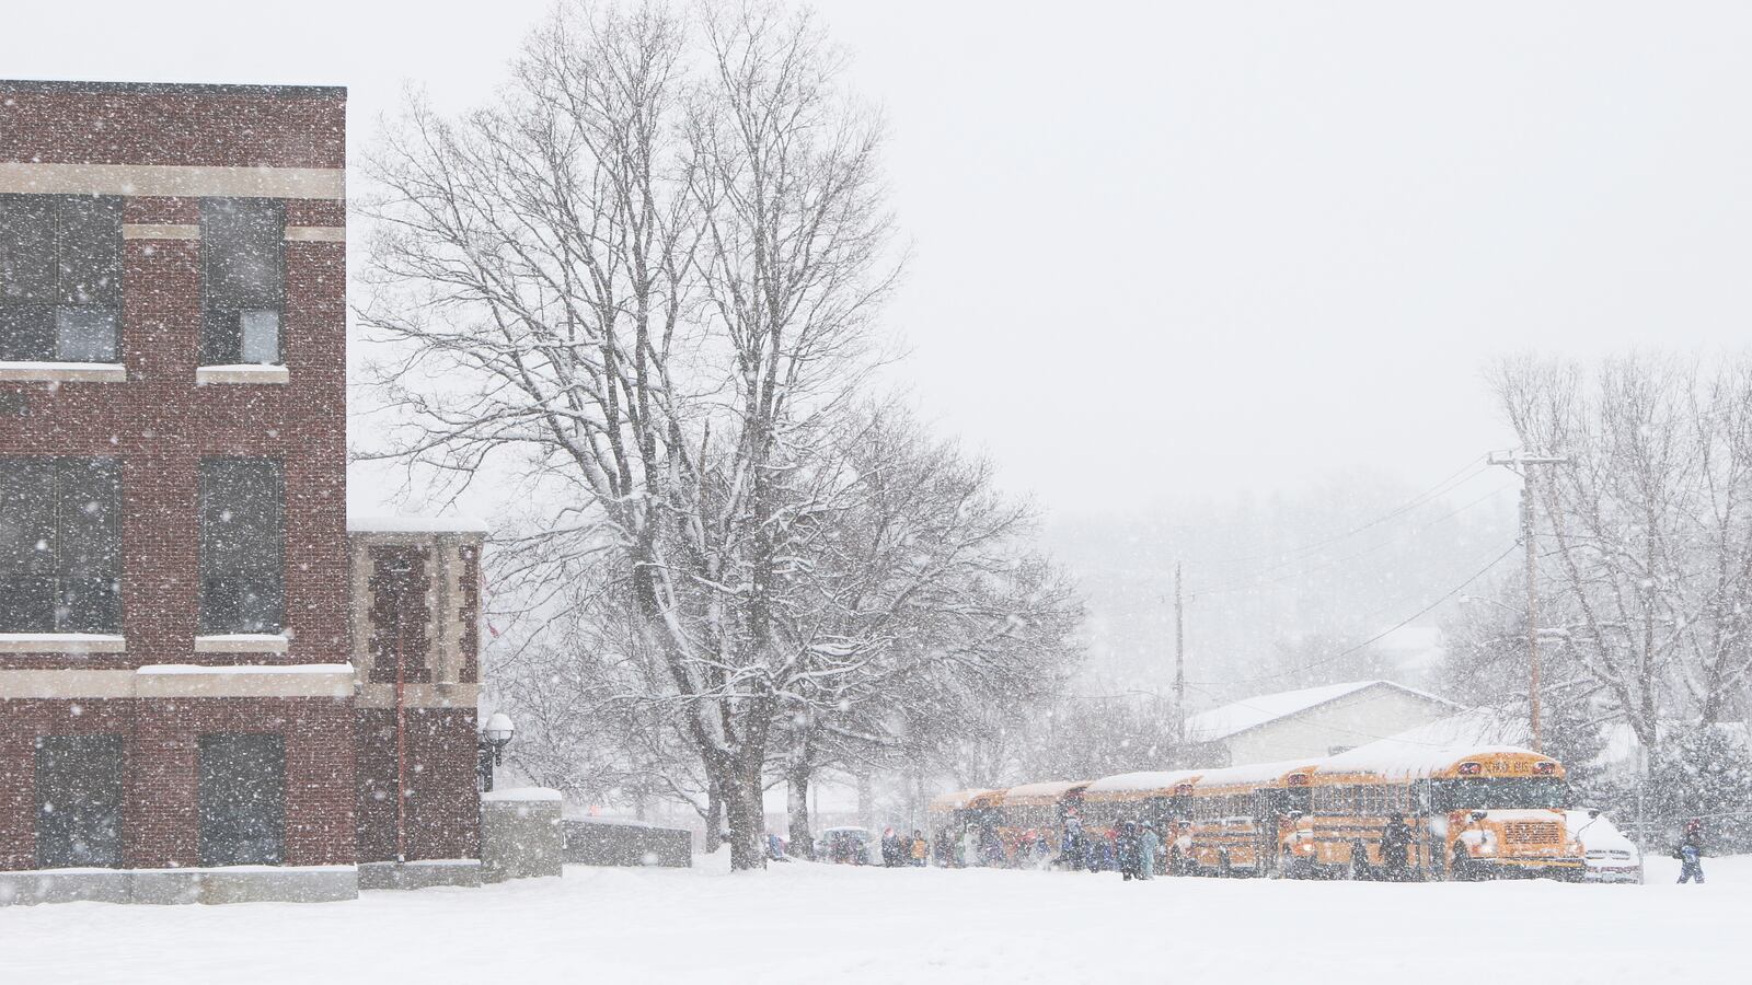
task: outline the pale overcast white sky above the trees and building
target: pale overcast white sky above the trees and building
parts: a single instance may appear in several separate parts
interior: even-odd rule
[[[477,102],[547,0],[7,4],[0,75]],[[892,123],[894,373],[1060,517],[1508,443],[1491,354],[1738,345],[1748,4],[823,4]]]

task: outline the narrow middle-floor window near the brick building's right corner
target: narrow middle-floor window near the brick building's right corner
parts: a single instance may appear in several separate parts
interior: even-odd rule
[[[284,517],[280,463],[201,461],[201,634],[280,631]]]

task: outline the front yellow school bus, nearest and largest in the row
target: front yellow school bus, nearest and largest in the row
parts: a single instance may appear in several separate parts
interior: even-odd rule
[[[1580,880],[1563,766],[1515,747],[1372,743],[1323,761],[1284,847],[1286,875],[1402,880]],[[1382,854],[1398,815],[1405,859]]]

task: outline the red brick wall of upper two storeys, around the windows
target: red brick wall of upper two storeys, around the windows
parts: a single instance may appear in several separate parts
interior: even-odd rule
[[[0,82],[0,161],[343,165],[345,96],[39,91]],[[103,126],[96,126],[96,121]],[[126,223],[198,219],[194,198],[128,198]],[[289,202],[287,224],[343,224],[340,202]],[[194,386],[198,240],[130,240],[123,272],[126,384],[0,384],[26,417],[0,417],[0,456],[123,457],[126,655],[152,663],[340,663],[350,652],[345,554],[345,244],[286,244],[286,386]],[[282,657],[193,654],[198,612],[196,468],[201,456],[286,463]],[[4,655],[0,666],[72,666]]]

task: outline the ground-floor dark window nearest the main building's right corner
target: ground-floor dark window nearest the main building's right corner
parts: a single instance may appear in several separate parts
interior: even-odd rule
[[[286,740],[200,736],[200,864],[279,866],[286,857]]]

